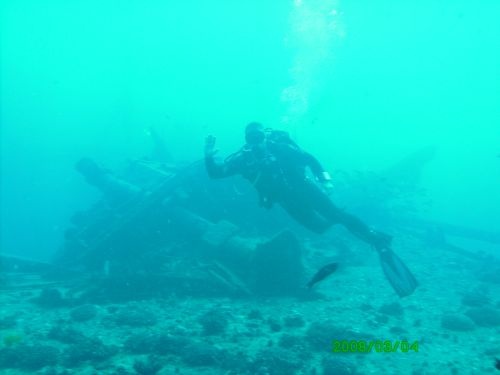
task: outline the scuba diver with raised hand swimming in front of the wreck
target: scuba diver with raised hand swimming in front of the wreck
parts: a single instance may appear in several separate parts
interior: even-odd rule
[[[218,163],[214,155],[215,137],[205,140],[205,166],[211,178],[241,175],[259,194],[260,205],[279,204],[307,229],[324,233],[334,224],[343,225],[360,240],[373,246],[380,255],[384,274],[400,297],[415,290],[418,283],[405,264],[391,250],[392,237],[374,231],[357,217],[339,209],[325,191],[333,185],[328,172],[311,154],[303,151],[287,132],[265,129],[251,122],[245,129],[245,145]],[[310,169],[319,184],[306,175]]]

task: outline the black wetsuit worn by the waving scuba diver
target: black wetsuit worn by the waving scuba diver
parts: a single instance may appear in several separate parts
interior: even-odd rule
[[[324,169],[318,160],[293,141],[286,141],[283,132],[273,133],[266,137],[262,147],[245,145],[222,164],[206,157],[209,176],[224,178],[239,174],[255,186],[262,206],[270,208],[278,203],[297,222],[316,233],[323,233],[333,224],[342,224],[360,239],[380,246],[380,234],[340,210],[306,176],[308,167],[320,182],[324,181]]]

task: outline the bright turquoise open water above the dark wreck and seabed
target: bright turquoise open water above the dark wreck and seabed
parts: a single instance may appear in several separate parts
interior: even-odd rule
[[[81,157],[123,168],[151,152],[150,127],[176,162],[201,159],[208,134],[228,155],[253,120],[288,131],[332,172],[333,200],[367,218],[375,183],[349,192],[341,172],[384,174],[434,147],[419,217],[500,232],[498,1],[6,0],[0,11],[3,253],[46,260],[61,247],[73,213],[100,197],[74,171]],[[498,258],[498,242],[476,241],[455,243]],[[424,279],[439,273],[436,259],[413,260]],[[498,285],[485,285],[498,313]]]

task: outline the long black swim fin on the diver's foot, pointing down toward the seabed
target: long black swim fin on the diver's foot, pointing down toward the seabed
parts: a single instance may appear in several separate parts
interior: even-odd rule
[[[379,249],[380,265],[385,277],[400,297],[412,294],[418,286],[418,281],[408,267],[391,249]]]

